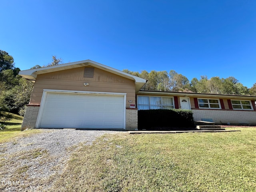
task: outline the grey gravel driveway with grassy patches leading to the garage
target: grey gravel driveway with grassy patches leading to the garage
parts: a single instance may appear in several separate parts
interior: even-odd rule
[[[117,133],[120,132],[42,129],[40,134],[0,144],[0,190],[47,191],[52,184],[49,179],[61,174],[78,144],[89,145],[103,134]]]

